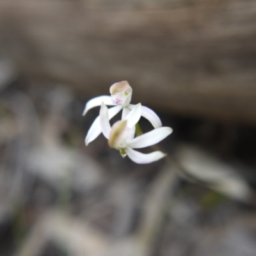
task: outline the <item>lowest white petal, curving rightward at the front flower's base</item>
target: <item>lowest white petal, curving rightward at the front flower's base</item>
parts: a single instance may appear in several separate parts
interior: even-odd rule
[[[166,156],[166,154],[161,151],[143,154],[141,152],[133,150],[130,147],[125,148],[125,152],[127,153],[127,156],[137,164],[149,164]]]

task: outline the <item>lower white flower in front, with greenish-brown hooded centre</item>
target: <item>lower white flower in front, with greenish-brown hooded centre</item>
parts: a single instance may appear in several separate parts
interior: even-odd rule
[[[108,108],[102,103],[100,108],[100,126],[102,133],[108,139],[109,147],[120,150],[122,157],[127,155],[135,163],[147,164],[163,158],[166,154],[161,151],[143,154],[133,148],[145,148],[158,143],[172,133],[172,128],[159,127],[134,138],[135,125],[140,120],[140,116],[141,104],[139,103],[125,116],[124,120],[116,122],[111,127],[109,124]]]

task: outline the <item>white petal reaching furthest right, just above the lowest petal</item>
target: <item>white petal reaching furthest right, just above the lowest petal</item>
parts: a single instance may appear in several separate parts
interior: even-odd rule
[[[128,145],[131,148],[145,148],[152,146],[161,140],[164,140],[164,138],[166,138],[171,133],[172,128],[160,127],[132,139],[129,141]]]

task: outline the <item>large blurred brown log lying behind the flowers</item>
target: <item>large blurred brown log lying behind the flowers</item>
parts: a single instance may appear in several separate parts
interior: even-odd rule
[[[256,124],[256,1],[0,0],[1,52],[84,97]]]

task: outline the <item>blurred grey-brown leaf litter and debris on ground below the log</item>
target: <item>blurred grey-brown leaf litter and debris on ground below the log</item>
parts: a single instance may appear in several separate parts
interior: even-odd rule
[[[85,147],[99,109],[83,118],[65,86],[30,83],[0,95],[4,256],[253,256],[256,143],[240,147],[256,141],[252,127],[228,126],[225,158],[220,125],[163,115],[168,157],[140,165],[102,136]]]

